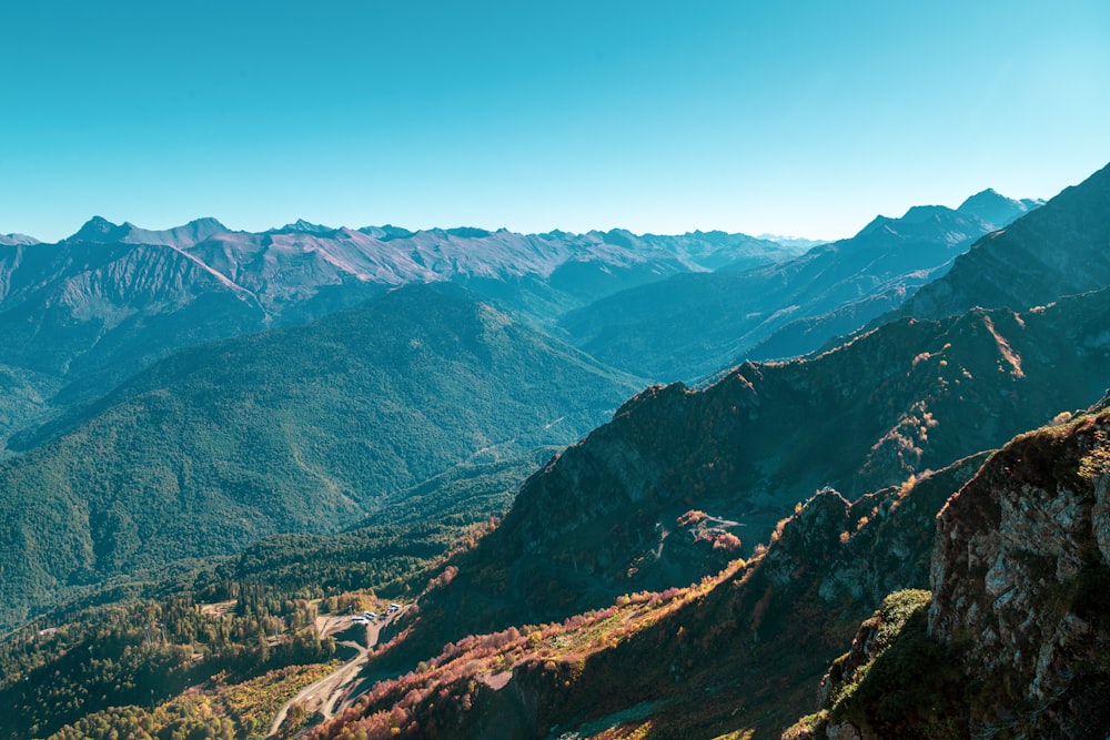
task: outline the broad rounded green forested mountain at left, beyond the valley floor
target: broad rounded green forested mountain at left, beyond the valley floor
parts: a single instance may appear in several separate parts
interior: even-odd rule
[[[401,491],[573,442],[635,387],[450,285],[183,352],[0,465],[3,621],[269,534],[389,520]]]

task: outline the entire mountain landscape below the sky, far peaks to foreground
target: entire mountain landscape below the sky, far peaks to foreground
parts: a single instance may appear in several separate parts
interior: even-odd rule
[[[0,737],[1098,737],[1108,183],[8,239]]]

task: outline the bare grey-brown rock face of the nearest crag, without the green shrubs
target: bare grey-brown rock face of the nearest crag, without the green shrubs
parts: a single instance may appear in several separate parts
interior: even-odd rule
[[[938,517],[929,630],[963,656],[971,737],[1110,729],[1108,433],[1102,412],[1022,435]]]

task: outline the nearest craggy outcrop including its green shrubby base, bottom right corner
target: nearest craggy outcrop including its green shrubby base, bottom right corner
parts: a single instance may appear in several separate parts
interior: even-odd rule
[[[937,516],[931,600],[864,621],[784,738],[1106,738],[1108,432],[1099,410],[992,455]]]

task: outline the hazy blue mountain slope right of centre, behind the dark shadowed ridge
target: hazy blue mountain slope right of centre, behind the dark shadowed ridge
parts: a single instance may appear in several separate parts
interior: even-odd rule
[[[959,211],[917,206],[793,260],[629,288],[559,324],[615,367],[659,381],[697,379],[745,357],[810,352],[867,324],[993,229]]]

